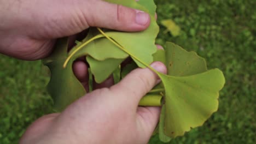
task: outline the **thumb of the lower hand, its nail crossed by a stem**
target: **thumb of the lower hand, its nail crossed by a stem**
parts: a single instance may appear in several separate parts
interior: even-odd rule
[[[166,66],[161,62],[154,62],[151,67],[160,73],[166,73]],[[159,77],[149,68],[137,68],[124,77],[117,85],[110,87],[110,90],[117,93],[115,98],[120,103],[125,103],[130,108],[137,110],[139,100],[148,93],[156,83],[160,82]],[[123,95],[123,97],[120,97]]]

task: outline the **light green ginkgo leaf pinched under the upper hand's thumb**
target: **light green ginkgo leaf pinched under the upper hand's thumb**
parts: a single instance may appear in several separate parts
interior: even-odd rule
[[[149,13],[149,11],[155,11],[155,7],[147,7],[151,8],[148,10],[146,7],[143,7],[139,3],[137,3],[134,0],[127,0],[127,1],[117,1],[117,0],[108,0],[107,2],[115,3],[115,4],[121,4],[126,7],[146,11]],[[155,5],[154,1],[148,1],[148,3],[145,3],[148,5]],[[155,38],[158,35],[159,32],[159,26],[156,23],[155,20],[155,14],[150,14],[150,26],[142,32],[133,32],[133,33],[127,33],[127,32],[106,32],[106,34],[117,41],[118,44],[125,47],[129,52],[132,53],[132,55],[135,55],[136,57],[141,58],[141,60],[147,64],[150,64],[153,62],[153,53],[156,52],[156,46],[155,46]],[[146,66],[140,62],[138,62],[136,59],[133,59],[139,67],[145,68]]]

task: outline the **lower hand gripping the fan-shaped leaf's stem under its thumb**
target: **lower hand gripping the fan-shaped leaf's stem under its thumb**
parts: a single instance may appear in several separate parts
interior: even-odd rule
[[[160,62],[151,66],[166,73]],[[62,113],[39,118],[20,143],[147,143],[160,107],[138,107],[138,103],[158,82],[148,68],[135,69],[117,85],[86,94]]]

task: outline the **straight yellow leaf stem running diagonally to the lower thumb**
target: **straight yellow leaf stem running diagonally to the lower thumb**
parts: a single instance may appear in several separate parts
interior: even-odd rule
[[[101,32],[102,35],[104,35],[108,40],[110,40],[113,44],[115,44],[116,46],[118,46],[121,50],[123,50],[124,52],[126,52],[128,55],[130,55],[132,58],[135,58],[138,62],[142,63],[143,65],[145,65],[146,67],[148,67],[150,70],[154,71],[156,74],[159,75],[159,72],[156,71],[155,69],[153,69],[152,67],[150,67],[150,65],[148,65],[147,63],[142,62],[139,58],[137,58],[136,56],[133,56],[132,53],[130,53],[129,51],[127,51],[123,46],[121,46],[120,44],[118,44],[117,42],[115,42],[113,39],[111,39],[110,37],[108,37],[108,35],[106,33],[104,33],[100,28],[98,28],[98,31]]]

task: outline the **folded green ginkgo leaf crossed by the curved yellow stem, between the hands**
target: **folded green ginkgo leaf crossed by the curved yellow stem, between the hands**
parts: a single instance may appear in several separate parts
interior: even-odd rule
[[[94,37],[97,39],[91,41],[89,44],[81,47],[79,51],[75,52],[83,43],[86,43],[86,41]],[[90,28],[87,37],[82,43],[78,43],[78,45],[69,52],[72,61],[78,57],[86,55],[89,55],[86,59],[88,60],[91,67],[91,73],[94,75],[97,83],[106,80],[113,71],[118,68],[119,64],[129,56],[108,39],[102,37],[102,34],[100,34],[96,28]],[[104,73],[102,73],[102,71],[104,71]]]

